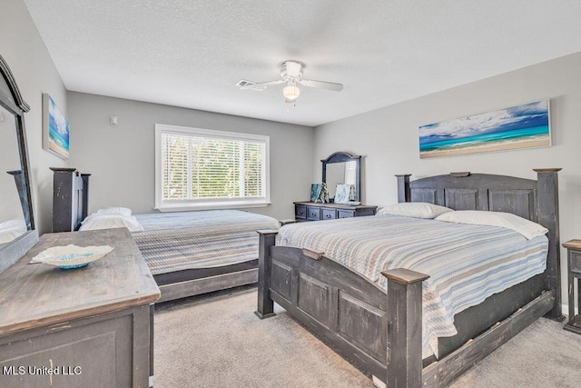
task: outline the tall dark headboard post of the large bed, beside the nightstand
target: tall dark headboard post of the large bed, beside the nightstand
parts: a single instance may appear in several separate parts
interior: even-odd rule
[[[547,318],[563,321],[561,309],[561,246],[559,243],[558,172],[560,168],[536,168],[538,224],[548,229],[547,288],[555,290],[555,307]]]

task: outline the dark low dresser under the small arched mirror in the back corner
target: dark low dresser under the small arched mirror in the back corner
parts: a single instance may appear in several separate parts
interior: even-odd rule
[[[349,206],[347,204],[320,204],[315,202],[295,202],[294,218],[300,223],[303,221],[334,220],[336,218],[361,217],[374,215],[377,206],[359,204]]]

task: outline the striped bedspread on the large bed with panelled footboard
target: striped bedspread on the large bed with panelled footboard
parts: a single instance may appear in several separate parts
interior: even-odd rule
[[[547,237],[527,240],[497,226],[375,215],[281,228],[277,244],[309,248],[387,289],[381,272],[408,268],[423,286],[423,357],[438,356],[438,337],[457,333],[454,314],[541,274]]]

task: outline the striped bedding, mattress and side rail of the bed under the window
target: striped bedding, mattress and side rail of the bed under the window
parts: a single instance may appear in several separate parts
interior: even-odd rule
[[[258,234],[279,222],[238,210],[137,214],[132,233],[153,278],[159,302],[258,281]]]

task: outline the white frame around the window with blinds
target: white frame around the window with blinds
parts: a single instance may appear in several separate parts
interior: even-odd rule
[[[162,133],[202,135],[229,140],[260,141],[265,144],[264,196],[259,198],[212,198],[203,200],[163,200],[162,196]],[[181,212],[211,209],[239,209],[263,207],[271,204],[270,136],[241,134],[212,129],[192,128],[169,124],[155,124],[155,209],[161,212]]]

